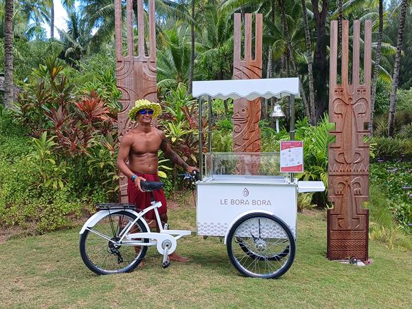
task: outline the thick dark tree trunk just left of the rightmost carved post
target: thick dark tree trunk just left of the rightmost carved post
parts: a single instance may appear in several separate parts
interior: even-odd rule
[[[319,0],[312,0],[312,10],[317,29],[317,43],[314,48],[313,61],[313,86],[314,101],[317,102],[318,120],[326,111],[329,105],[328,100],[328,62],[326,61],[326,19],[328,17],[329,0],[322,1],[322,11],[319,12]]]

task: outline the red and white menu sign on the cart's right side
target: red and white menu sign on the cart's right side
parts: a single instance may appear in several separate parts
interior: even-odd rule
[[[304,172],[304,142],[281,141],[280,142],[280,172],[301,173]]]

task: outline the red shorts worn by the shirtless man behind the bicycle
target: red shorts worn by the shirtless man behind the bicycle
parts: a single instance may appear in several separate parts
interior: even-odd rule
[[[135,173],[136,176],[141,176],[147,181],[159,181],[159,176],[157,174],[141,174],[137,172]],[[165,214],[168,211],[167,203],[166,203],[166,197],[165,197],[165,192],[163,192],[163,189],[155,190],[153,192],[140,192],[139,189],[137,189],[135,183],[129,178],[127,182],[127,195],[128,195],[128,201],[130,204],[135,204],[136,208],[138,209],[145,209],[147,207],[150,207],[151,204],[150,202],[152,201],[152,194],[153,197],[155,198],[155,201],[161,202],[161,207],[158,208],[159,214]],[[156,215],[155,211],[150,210],[146,215],[145,218],[147,220],[155,220]]]

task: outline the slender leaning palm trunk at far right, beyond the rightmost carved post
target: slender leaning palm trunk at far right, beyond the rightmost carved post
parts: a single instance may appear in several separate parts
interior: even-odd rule
[[[388,122],[388,135],[389,135],[389,137],[393,137],[393,130],[394,130],[394,126],[395,126],[396,90],[398,90],[400,56],[401,56],[401,52],[402,52],[405,16],[407,15],[407,4],[408,4],[407,0],[402,0],[402,3],[400,5],[400,21],[399,21],[399,28],[398,28],[398,44],[396,45],[395,66],[393,67],[393,77],[392,77],[391,101],[390,101],[390,105],[389,105],[389,122]]]

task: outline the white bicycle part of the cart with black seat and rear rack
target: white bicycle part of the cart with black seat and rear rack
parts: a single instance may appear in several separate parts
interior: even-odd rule
[[[196,181],[196,174],[184,175],[192,183]],[[159,190],[164,185],[157,181],[141,182],[145,192]],[[80,230],[80,255],[84,264],[98,275],[129,273],[144,259],[148,247],[156,246],[163,255],[163,268],[168,267],[168,255],[176,250],[176,241],[192,231],[171,230],[167,223],[162,225],[160,207],[161,202],[154,201],[153,195],[151,205],[139,212],[133,204],[99,204],[98,211]],[[150,231],[144,219],[151,210],[155,211],[157,232]]]

